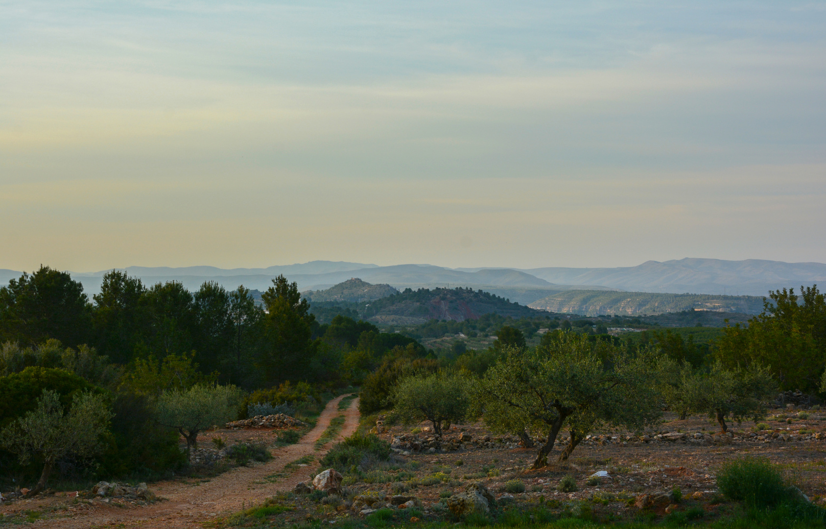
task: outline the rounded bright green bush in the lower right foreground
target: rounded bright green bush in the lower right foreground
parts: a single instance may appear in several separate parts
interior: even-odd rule
[[[723,465],[717,473],[717,487],[726,498],[750,508],[764,509],[794,500],[775,465],[762,458],[746,457]]]

